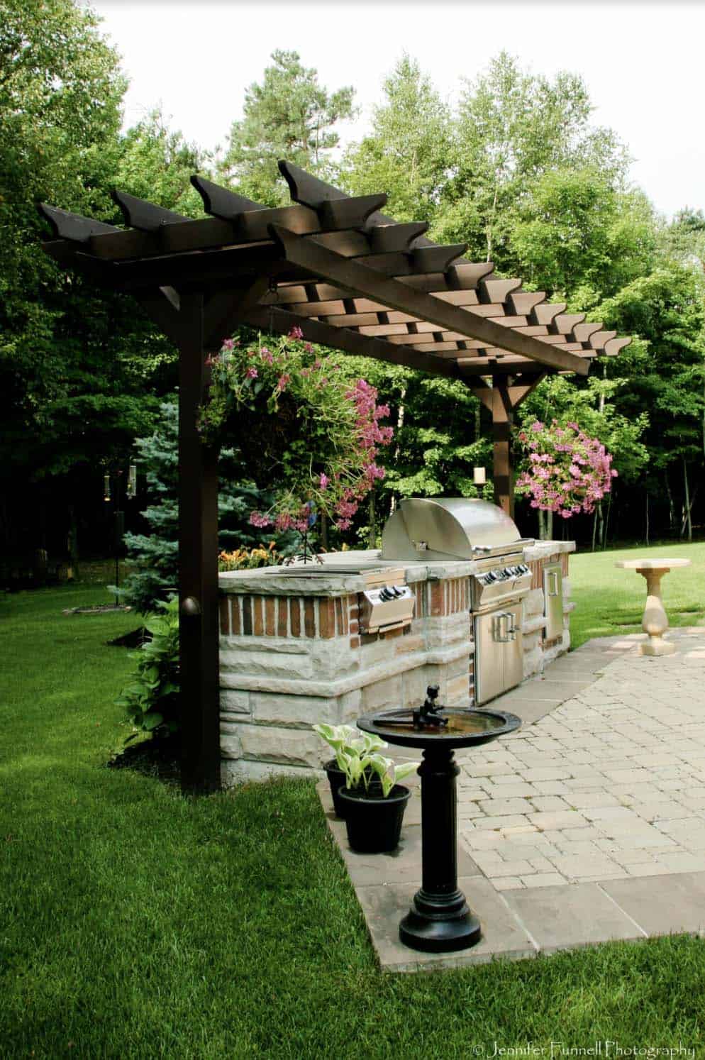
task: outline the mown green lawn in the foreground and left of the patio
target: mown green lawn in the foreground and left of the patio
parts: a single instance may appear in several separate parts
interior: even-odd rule
[[[701,939],[384,975],[311,783],[191,800],[106,768],[135,618],[61,611],[107,599],[0,600],[0,1057],[702,1055]]]

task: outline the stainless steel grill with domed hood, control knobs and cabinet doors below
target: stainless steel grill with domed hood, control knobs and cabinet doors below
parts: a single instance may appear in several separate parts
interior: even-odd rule
[[[524,675],[522,600],[531,587],[514,522],[495,505],[464,497],[403,500],[382,535],[382,559],[474,560],[470,577],[475,639],[475,702],[486,703]]]

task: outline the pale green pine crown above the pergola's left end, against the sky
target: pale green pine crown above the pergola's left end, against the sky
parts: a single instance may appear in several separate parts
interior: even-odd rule
[[[278,160],[324,177],[338,145],[334,126],[353,117],[354,89],[329,92],[298,52],[275,51],[271,58],[262,84],[253,82],[245,93],[244,114],[232,123],[221,171],[243,194],[278,206],[287,200]]]

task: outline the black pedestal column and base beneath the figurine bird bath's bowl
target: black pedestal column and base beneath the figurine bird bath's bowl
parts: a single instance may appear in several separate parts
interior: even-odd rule
[[[480,923],[458,889],[456,777],[453,750],[427,747],[421,777],[422,884],[399,925],[405,946],[431,953],[465,950],[480,938]]]

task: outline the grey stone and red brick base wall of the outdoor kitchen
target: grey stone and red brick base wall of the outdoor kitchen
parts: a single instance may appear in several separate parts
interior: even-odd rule
[[[542,543],[527,555],[536,587],[524,608],[525,676],[542,669],[544,659],[543,566],[563,553],[567,572],[565,553],[574,547]],[[280,568],[221,575],[226,784],[272,773],[311,775],[330,757],[313,724],[352,724],[372,710],[418,706],[428,685],[440,686],[447,705],[472,704],[469,575],[475,564],[400,566],[416,595],[415,617],[410,626],[382,634],[359,633],[359,576],[298,578]],[[546,650],[559,654],[568,644],[566,611],[564,637]]]

